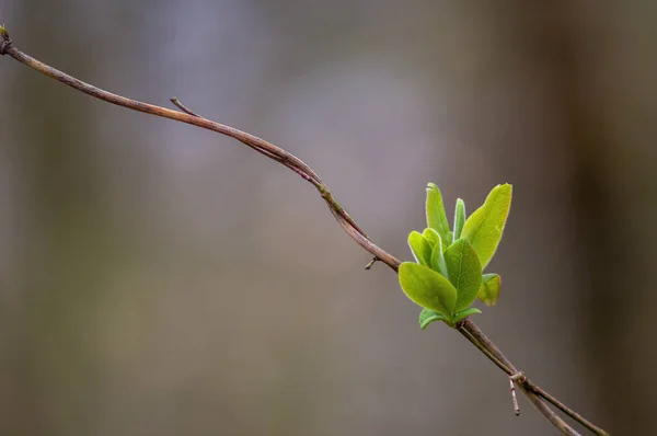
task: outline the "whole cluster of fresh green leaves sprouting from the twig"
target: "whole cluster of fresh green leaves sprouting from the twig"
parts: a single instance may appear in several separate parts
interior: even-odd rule
[[[399,271],[402,289],[423,308],[418,320],[423,330],[435,321],[454,328],[481,313],[470,307],[477,298],[495,305],[502,279],[497,274],[483,274],[483,269],[497,250],[510,205],[511,185],[497,185],[466,220],[465,204],[459,198],[450,231],[440,190],[428,184],[427,228],[408,234],[416,263],[404,262]]]

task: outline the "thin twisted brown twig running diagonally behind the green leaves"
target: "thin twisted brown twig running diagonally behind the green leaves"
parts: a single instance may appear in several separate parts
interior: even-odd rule
[[[169,118],[181,123],[191,124],[196,127],[205,128],[208,130],[216,131],[221,135],[226,135],[246,145],[253,150],[264,154],[265,157],[275,160],[276,162],[287,167],[303,180],[312,184],[324,202],[328,209],[341,225],[343,230],[351,237],[361,248],[371,253],[374,257],[367,265],[369,269],[374,262],[380,261],[390,266],[394,272],[397,272],[401,262],[389,254],[377,244],[374,244],[367,234],[360,229],[360,227],[349,217],[347,211],[336,202],[328,191],[328,186],[320,179],[320,176],[303,161],[296,156],[285,151],[280,147],[273,145],[264,139],[247,134],[237,128],[226,126],[207,119],[197,113],[191,111],[184,106],[177,99],[172,99],[172,103],[177,106],[182,112],[172,111],[166,107],[155,106],[153,104],[143,103],[137,100],[127,99],[122,95],[113,94],[104,91],[100,88],[93,87],[85,83],[72,76],[61,72],[46,64],[38,61],[37,59],[24,54],[12,45],[9,34],[3,26],[0,26],[0,55],[9,55],[19,62],[35,69],[36,71],[46,74],[55,80],[58,80],[69,87],[81,91],[85,94],[105,101],[107,103],[116,104],[118,106],[127,107],[132,111],[143,112],[146,114],[159,116],[162,118]],[[550,395],[543,389],[539,388],[532,381],[530,381],[522,372],[519,372],[514,364],[507,359],[504,354],[493,344],[482,331],[472,322],[470,319],[465,319],[458,325],[458,331],[468,339],[474,346],[476,346],[484,355],[486,355],[495,365],[497,365],[504,372],[506,372],[511,381],[517,382],[520,390],[527,395],[529,401],[538,409],[538,411],[562,434],[576,436],[579,435],[568,424],[566,424],[561,417],[558,417],[545,403],[545,401],[552,403],[568,416],[580,423],[586,428],[590,429],[596,435],[608,435],[601,428],[595,426],[581,415],[577,414],[573,410],[566,408],[563,403],[557,401],[554,397]]]

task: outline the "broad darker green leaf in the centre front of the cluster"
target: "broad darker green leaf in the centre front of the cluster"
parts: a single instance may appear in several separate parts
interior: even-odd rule
[[[445,251],[449,280],[457,288],[457,312],[466,309],[476,299],[482,286],[482,265],[476,252],[464,239],[459,239]]]

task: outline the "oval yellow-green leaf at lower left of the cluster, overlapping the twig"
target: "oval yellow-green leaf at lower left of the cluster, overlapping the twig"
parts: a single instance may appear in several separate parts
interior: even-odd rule
[[[457,289],[434,269],[413,262],[400,265],[400,285],[406,296],[423,308],[450,315],[457,302]]]

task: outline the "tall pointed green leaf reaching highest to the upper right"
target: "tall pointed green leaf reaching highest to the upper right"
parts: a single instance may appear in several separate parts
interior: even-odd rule
[[[484,205],[468,218],[461,238],[470,241],[480,256],[482,268],[493,259],[511,207],[511,185],[497,185]]]

